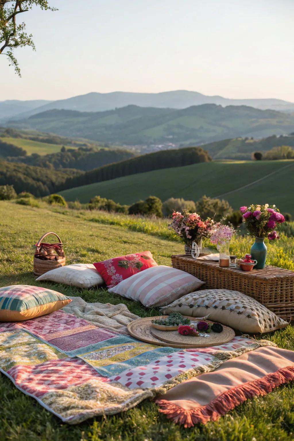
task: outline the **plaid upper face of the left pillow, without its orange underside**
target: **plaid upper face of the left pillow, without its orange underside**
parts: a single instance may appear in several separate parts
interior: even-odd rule
[[[11,285],[0,288],[0,310],[26,311],[35,306],[69,300],[52,289],[30,285]]]

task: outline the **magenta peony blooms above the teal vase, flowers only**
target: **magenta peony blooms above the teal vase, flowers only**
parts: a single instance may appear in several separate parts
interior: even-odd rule
[[[268,237],[269,240],[279,239],[277,229],[279,224],[285,222],[285,217],[275,206],[250,205],[249,207],[240,207],[249,235],[252,237]]]

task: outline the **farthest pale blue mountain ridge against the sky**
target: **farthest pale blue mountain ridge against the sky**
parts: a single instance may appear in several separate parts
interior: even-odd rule
[[[11,117],[25,118],[52,109],[76,110],[79,112],[102,112],[105,110],[126,107],[127,105],[181,109],[202,104],[217,104],[222,106],[246,105],[262,110],[273,109],[283,112],[294,111],[294,103],[275,98],[238,100],[223,98],[218,95],[203,95],[202,93],[189,90],[173,90],[160,93],[91,92],[86,95],[79,95],[77,97],[57,101],[0,101],[0,119],[8,120]]]

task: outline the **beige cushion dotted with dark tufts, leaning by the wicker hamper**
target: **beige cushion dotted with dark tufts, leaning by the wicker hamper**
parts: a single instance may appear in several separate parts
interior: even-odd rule
[[[204,317],[248,333],[264,333],[287,326],[257,300],[239,291],[204,289],[191,292],[161,308],[163,314],[180,312],[191,317]]]

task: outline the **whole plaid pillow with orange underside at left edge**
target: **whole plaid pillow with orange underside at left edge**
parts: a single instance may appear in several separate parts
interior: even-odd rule
[[[0,321],[22,321],[57,311],[71,302],[52,289],[30,285],[0,288]]]

